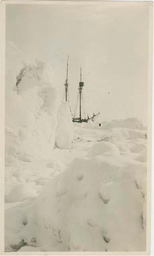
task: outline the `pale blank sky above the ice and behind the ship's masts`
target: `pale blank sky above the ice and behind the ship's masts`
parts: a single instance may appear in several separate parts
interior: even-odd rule
[[[84,94],[99,120],[139,118],[146,124],[148,84],[147,2],[7,4],[6,40],[32,61],[49,62],[64,90],[77,98],[82,66]]]

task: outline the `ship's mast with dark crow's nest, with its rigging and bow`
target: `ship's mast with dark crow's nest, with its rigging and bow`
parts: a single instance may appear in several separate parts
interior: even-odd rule
[[[77,122],[77,123],[82,123],[82,122],[87,123],[89,120],[94,121],[94,118],[100,114],[100,112],[98,112],[97,114],[93,113],[93,116],[91,116],[91,117],[89,117],[88,113],[86,115],[85,109],[87,111],[87,108],[84,104],[84,99],[83,99],[83,93],[82,93],[83,86],[84,86],[84,82],[81,82],[81,68],[80,68],[80,82],[79,82],[79,88],[78,88],[79,92],[78,92],[78,96],[77,96],[77,104],[78,104],[78,100],[79,100],[79,117],[76,117],[76,112],[77,112],[77,104],[76,104],[75,113],[72,118],[72,121]],[[81,103],[82,103],[82,105],[81,105]],[[84,118],[81,116],[81,107],[83,108]]]

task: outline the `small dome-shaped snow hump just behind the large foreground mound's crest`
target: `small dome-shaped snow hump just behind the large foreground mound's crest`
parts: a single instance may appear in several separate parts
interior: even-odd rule
[[[111,142],[102,141],[98,144],[94,144],[92,148],[90,148],[87,156],[93,157],[98,155],[119,155],[119,150],[117,146]]]

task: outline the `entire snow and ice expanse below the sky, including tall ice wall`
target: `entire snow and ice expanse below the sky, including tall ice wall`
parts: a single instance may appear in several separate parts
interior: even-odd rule
[[[51,67],[6,47],[5,250],[145,251],[146,128],[73,124]]]

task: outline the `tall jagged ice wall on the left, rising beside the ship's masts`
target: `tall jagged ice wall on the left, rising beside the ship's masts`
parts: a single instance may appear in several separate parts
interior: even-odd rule
[[[67,120],[64,137],[72,139],[71,116],[58,109],[59,88],[55,86],[53,70],[49,64],[36,60],[36,65],[12,43],[6,43],[6,165],[12,158],[22,161],[45,159],[55,146],[58,122]],[[66,109],[66,108],[65,108]],[[58,129],[56,133],[56,127]],[[61,125],[62,127],[62,125]],[[69,131],[70,129],[70,131]],[[62,130],[61,130],[62,133]],[[59,136],[62,136],[59,135]]]

